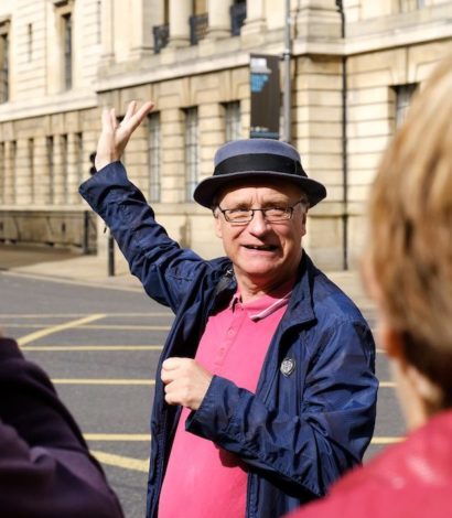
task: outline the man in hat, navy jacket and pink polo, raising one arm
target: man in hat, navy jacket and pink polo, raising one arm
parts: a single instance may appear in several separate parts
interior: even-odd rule
[[[98,172],[80,187],[148,294],[175,321],[155,381],[148,516],[277,517],[358,464],[375,422],[370,331],[302,250],[325,197],[299,153],[229,142],[194,198],[227,257],[203,260],[155,222],[118,161],[151,102],[104,111]]]

